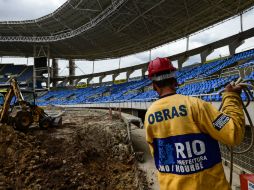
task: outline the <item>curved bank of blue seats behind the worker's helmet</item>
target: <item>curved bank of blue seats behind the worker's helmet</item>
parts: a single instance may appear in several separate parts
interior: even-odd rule
[[[238,62],[241,64],[238,64]],[[177,79],[180,85],[177,93],[190,96],[213,94],[203,96],[202,98],[207,101],[221,101],[221,97],[216,92],[221,90],[227,83],[239,78],[239,69],[248,70],[251,68],[253,71],[253,66],[254,49],[235,54],[226,59],[180,69],[177,72]],[[226,68],[228,70],[222,72]],[[232,70],[238,72],[233,75],[230,73],[225,75],[228,72],[232,72]],[[251,72],[244,77],[246,79],[254,79],[253,76],[254,72]],[[144,77],[142,80],[111,84],[110,86],[100,85],[84,89],[56,90],[41,96],[38,102],[40,105],[73,105],[128,101],[151,102],[158,98],[158,95],[155,91],[149,90],[150,84],[151,81],[147,77]],[[246,100],[245,94],[242,96]]]

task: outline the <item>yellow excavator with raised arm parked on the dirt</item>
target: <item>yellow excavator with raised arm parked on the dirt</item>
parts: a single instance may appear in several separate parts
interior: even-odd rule
[[[13,97],[17,102],[11,106]],[[18,82],[15,78],[10,80],[10,86],[4,96],[0,111],[0,123],[12,125],[15,129],[26,131],[32,124],[43,129],[51,126],[61,126],[61,116],[49,116],[43,108],[24,100]]]

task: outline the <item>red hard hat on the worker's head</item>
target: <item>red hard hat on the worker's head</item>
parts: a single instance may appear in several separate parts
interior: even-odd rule
[[[157,57],[148,65],[148,78],[152,79],[153,76],[164,71],[168,71],[170,73],[176,71],[176,68],[172,65],[168,58]]]

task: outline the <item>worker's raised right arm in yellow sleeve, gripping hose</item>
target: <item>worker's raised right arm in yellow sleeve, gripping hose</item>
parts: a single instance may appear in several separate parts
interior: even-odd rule
[[[198,101],[198,121],[201,130],[227,145],[238,145],[244,137],[245,120],[239,88],[226,87],[221,112],[208,102]]]

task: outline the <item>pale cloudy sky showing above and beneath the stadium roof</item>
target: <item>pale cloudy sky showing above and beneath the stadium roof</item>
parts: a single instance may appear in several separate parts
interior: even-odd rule
[[[60,7],[66,0],[0,0],[0,21],[10,20],[28,20],[36,19],[41,16],[45,16]],[[254,27],[254,10],[251,10],[243,15],[243,29],[247,30]],[[224,22],[220,25],[212,27],[204,32],[195,34],[190,37],[190,49],[203,46],[205,44],[223,39],[227,36],[240,32],[240,18]],[[254,38],[246,40],[246,42],[237,49],[237,52],[254,48]],[[174,55],[186,50],[186,39],[178,40],[169,44],[165,44],[161,47],[152,49],[152,59],[156,57],[163,57]],[[132,65],[141,64],[149,61],[149,52],[138,53],[127,57],[122,57],[120,66],[128,67]],[[226,56],[229,54],[228,47],[223,47],[215,50],[208,59],[216,57]],[[33,59],[25,58],[2,58],[2,63],[15,63],[15,64],[33,64]],[[184,64],[190,65],[195,62],[200,62],[200,56],[190,57]],[[176,65],[176,62],[174,62]],[[92,62],[89,61],[77,61],[76,74],[88,74],[92,73]],[[68,75],[68,62],[65,60],[60,61],[60,74]],[[119,67],[119,59],[114,60],[102,60],[95,62],[95,72],[102,72],[106,70],[117,69]],[[137,71],[132,76],[139,75],[141,72]],[[124,78],[125,74],[121,74],[117,79]],[[106,78],[109,79],[110,77]],[[96,80],[96,79],[95,79]],[[97,80],[96,80],[97,81]]]

